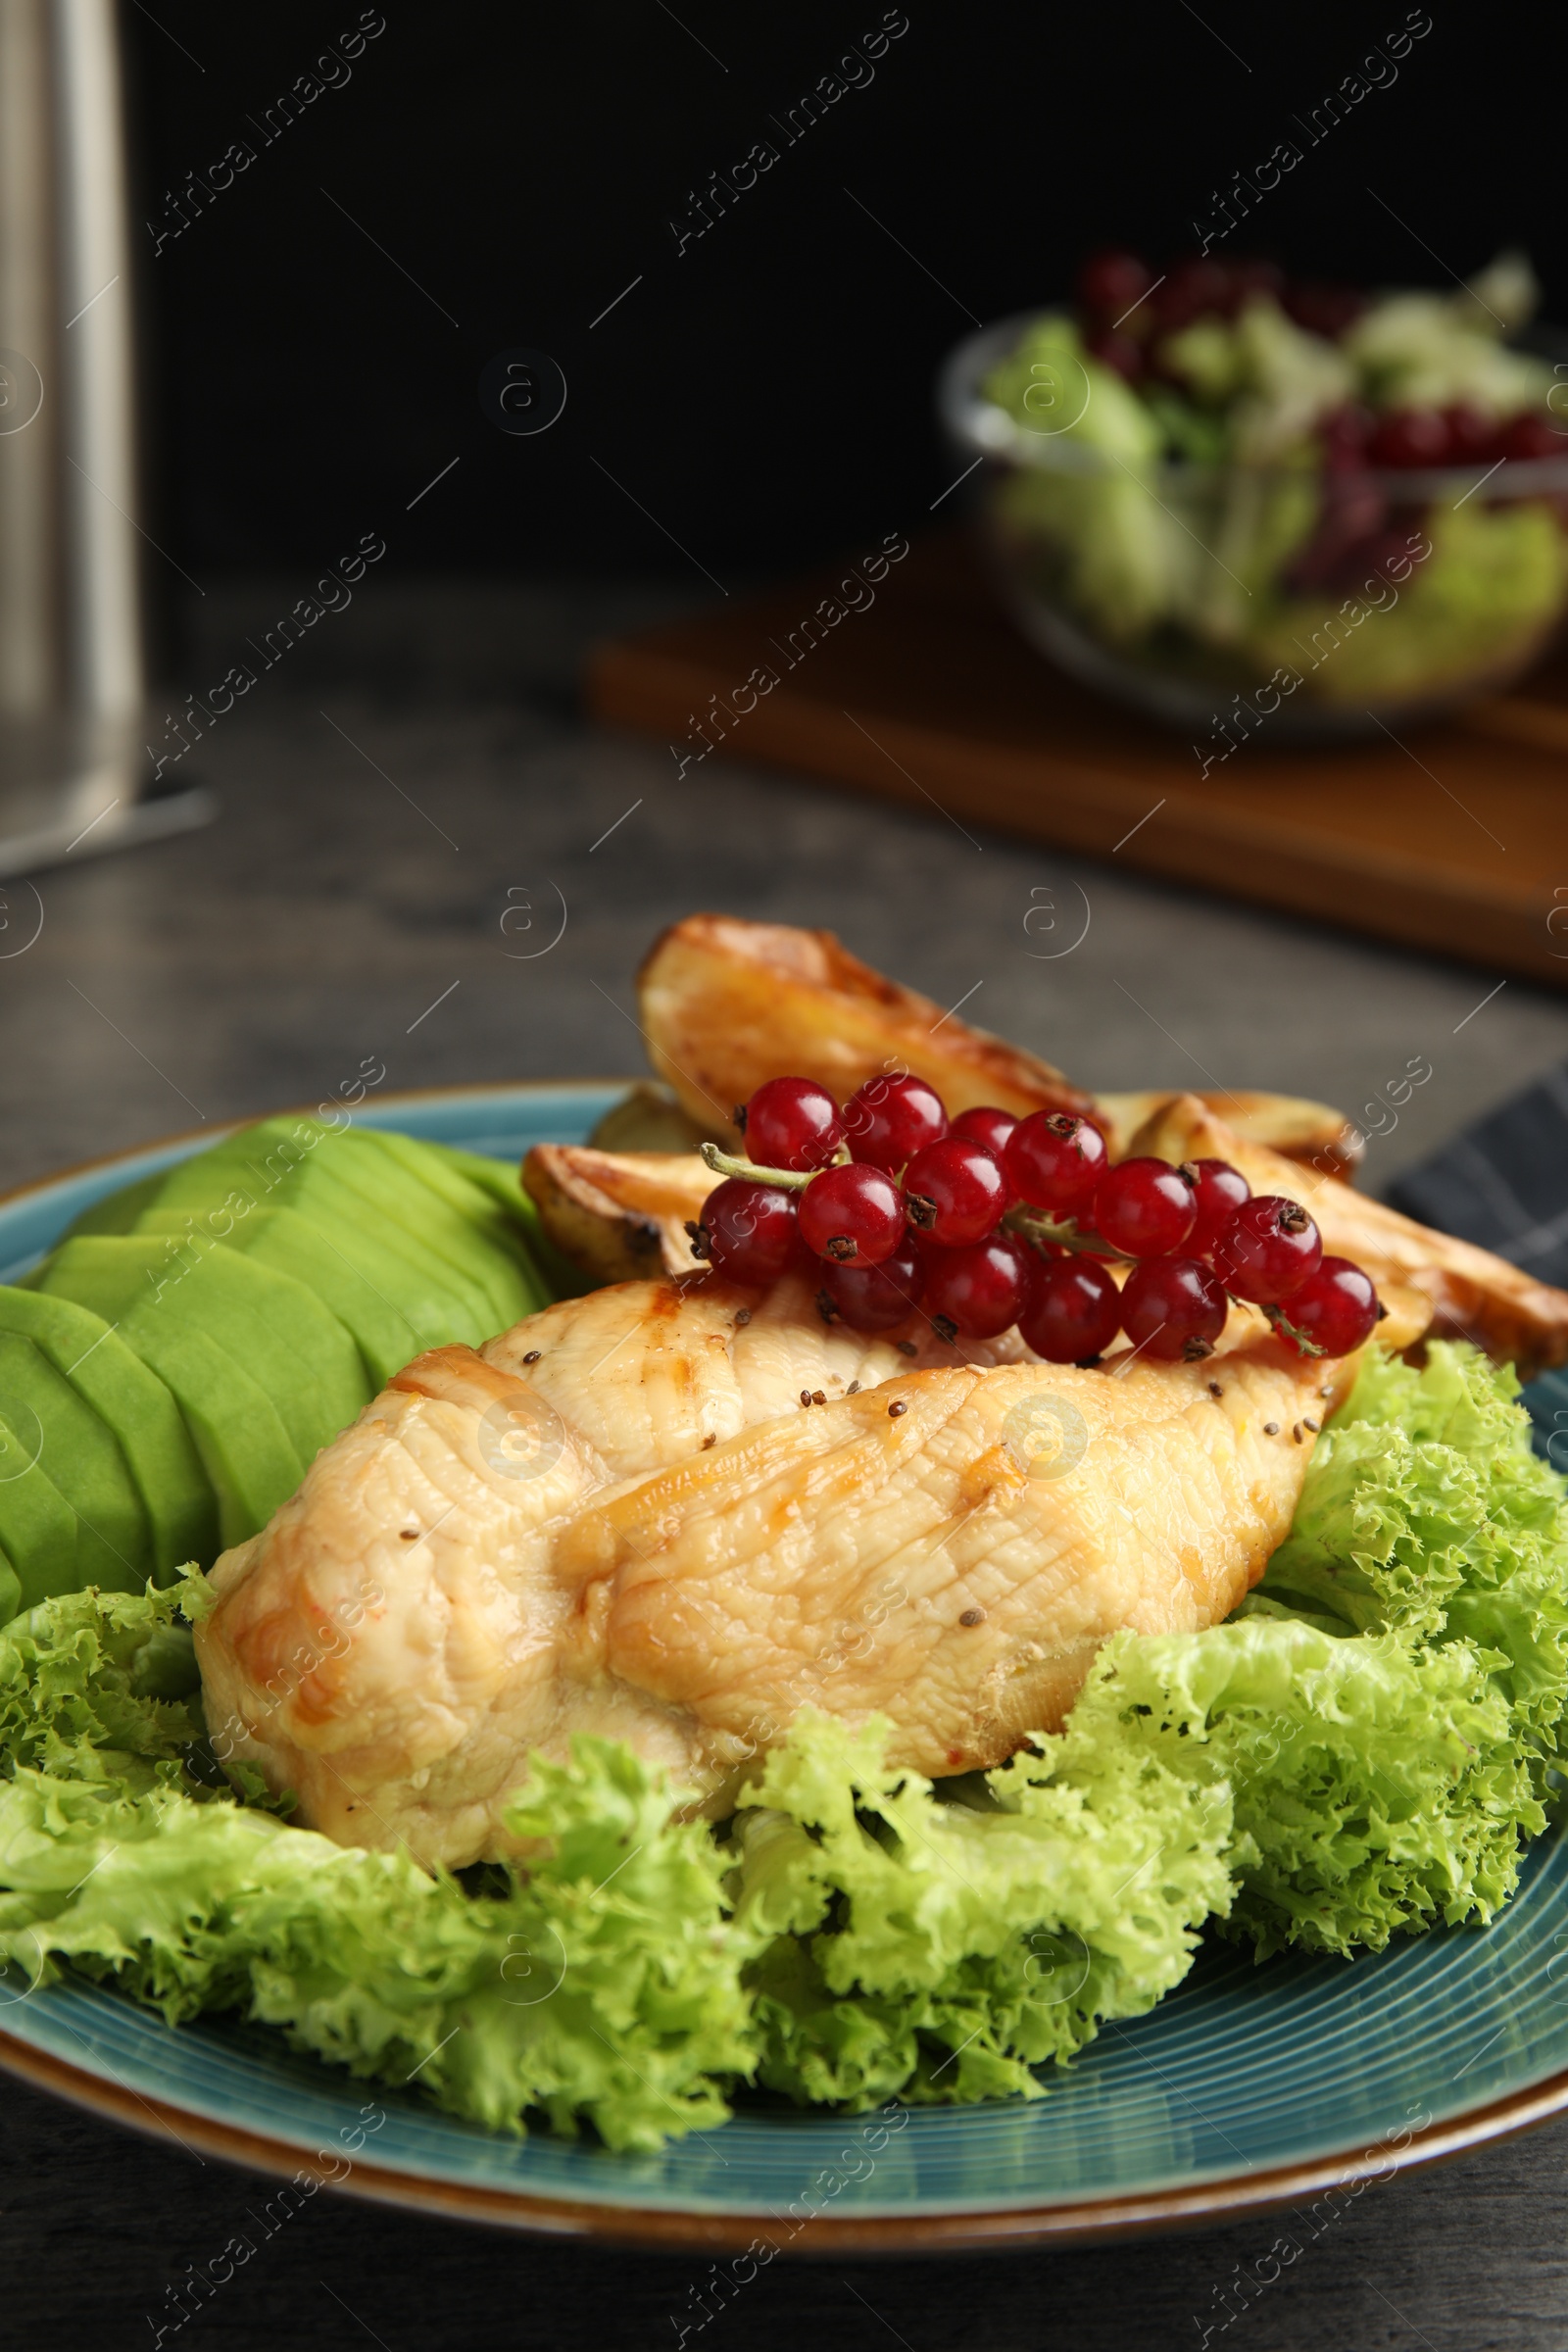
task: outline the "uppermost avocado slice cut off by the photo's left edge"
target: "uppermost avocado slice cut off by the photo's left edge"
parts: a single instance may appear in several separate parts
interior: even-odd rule
[[[31,1338],[113,1430],[148,1517],[158,1581],[169,1583],[186,1559],[207,1566],[219,1550],[212,1479],[150,1364],[101,1315],[47,1291],[0,1287],[0,1331]]]

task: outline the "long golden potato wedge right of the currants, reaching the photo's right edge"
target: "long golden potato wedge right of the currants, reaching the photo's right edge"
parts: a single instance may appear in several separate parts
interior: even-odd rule
[[[1521,1381],[1568,1362],[1568,1291],[1521,1275],[1490,1249],[1418,1225],[1380,1200],[1366,1200],[1316,1169],[1251,1143],[1197,1094],[1161,1103],[1131,1136],[1131,1150],[1173,1164],[1229,1160],[1253,1192],[1300,1200],[1319,1223],[1324,1249],[1363,1265],[1385,1303],[1392,1303],[1394,1284],[1420,1291],[1432,1308],[1436,1338],[1474,1341],[1500,1364],[1516,1364]]]

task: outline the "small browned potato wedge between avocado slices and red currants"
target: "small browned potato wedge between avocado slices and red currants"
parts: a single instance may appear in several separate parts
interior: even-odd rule
[[[555,1247],[595,1282],[646,1282],[698,1272],[696,1223],[715,1176],[696,1152],[599,1152],[590,1143],[536,1143],[522,1188]]]

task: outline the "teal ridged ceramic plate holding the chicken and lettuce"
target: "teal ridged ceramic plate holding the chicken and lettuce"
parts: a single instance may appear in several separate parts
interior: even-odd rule
[[[616,1091],[465,1089],[367,1103],[357,1117],[517,1160],[529,1143],[581,1138]],[[101,1192],[209,1141],[186,1136],[0,1202],[0,1279]],[[1542,1446],[1561,1430],[1568,1458],[1568,1383],[1537,1383],[1530,1404]],[[522,2230],[701,2246],[733,2256],[736,2279],[771,2260],[769,2246],[1027,2244],[1269,2204],[1295,2209],[1295,2234],[1316,2234],[1326,2187],[1354,2190],[1568,2105],[1568,1844],[1535,1846],[1519,1896],[1481,1933],[1262,1969],[1215,1945],[1152,2016],[1112,2025],[1027,2107],[849,2119],[750,2107],[658,2157],[611,2157],[491,2138],[414,2093],[294,2058],[261,2030],[169,2030],[85,1983],[9,2006],[0,1983],[0,2065],[261,2171]]]

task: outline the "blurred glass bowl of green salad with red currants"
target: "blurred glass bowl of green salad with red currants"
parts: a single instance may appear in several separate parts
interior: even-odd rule
[[[1523,256],[1453,294],[1157,275],[971,336],[940,416],[985,459],[1004,595],[1063,668],[1204,731],[1375,731],[1516,677],[1568,602],[1568,374]]]

